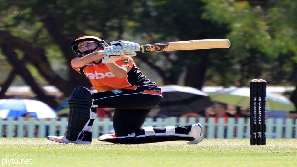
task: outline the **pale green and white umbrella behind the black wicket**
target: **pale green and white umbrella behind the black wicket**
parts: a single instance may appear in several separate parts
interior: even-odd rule
[[[213,101],[231,104],[238,107],[249,107],[249,88],[222,89],[220,91],[209,93],[209,97]],[[295,111],[295,105],[285,96],[266,93],[267,110],[273,111]]]

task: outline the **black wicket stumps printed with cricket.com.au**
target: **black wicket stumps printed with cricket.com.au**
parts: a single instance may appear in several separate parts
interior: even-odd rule
[[[266,81],[253,79],[250,85],[250,145],[266,145]]]

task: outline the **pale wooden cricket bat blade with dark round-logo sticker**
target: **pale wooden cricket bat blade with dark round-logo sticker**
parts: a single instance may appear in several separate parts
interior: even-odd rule
[[[195,49],[229,48],[229,40],[190,40],[141,45],[141,52],[182,51]]]

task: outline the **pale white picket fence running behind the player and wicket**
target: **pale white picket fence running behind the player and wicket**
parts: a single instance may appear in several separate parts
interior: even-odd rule
[[[6,137],[24,137],[24,130],[27,130],[26,137],[44,138],[46,135],[57,135],[57,132],[62,135],[67,128],[67,118],[57,120],[40,119],[34,120],[30,118],[24,121],[23,118],[14,120],[0,119],[0,137],[5,134]],[[194,117],[169,117],[158,118],[153,122],[152,118],[147,118],[143,126],[165,127],[165,126],[183,126],[200,122],[203,126],[204,138],[249,138],[249,119],[229,118],[225,123],[224,118],[220,118],[215,123],[214,118],[199,118]],[[268,119],[267,120],[267,137],[268,138],[297,138],[297,119]],[[95,119],[93,124],[93,138],[99,137],[102,134],[108,134],[112,129],[112,121],[110,118]]]

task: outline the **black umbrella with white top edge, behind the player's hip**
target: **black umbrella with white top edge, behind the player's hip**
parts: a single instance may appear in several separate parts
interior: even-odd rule
[[[212,105],[206,93],[192,87],[166,85],[160,88],[163,93],[160,114],[179,116],[191,112],[198,113]]]

